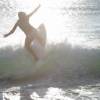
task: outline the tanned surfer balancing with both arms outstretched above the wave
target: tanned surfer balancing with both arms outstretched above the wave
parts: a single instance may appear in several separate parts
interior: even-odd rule
[[[41,46],[44,46],[43,39],[41,36],[38,34],[37,29],[35,29],[30,23],[29,23],[29,18],[40,8],[40,5],[32,11],[30,14],[26,14],[25,12],[18,12],[18,17],[19,19],[17,20],[16,24],[12,28],[12,30],[5,34],[4,37],[8,37],[14,31],[16,28],[19,26],[19,28],[25,33],[26,38],[25,38],[25,48],[35,57],[36,60],[38,60],[38,56],[34,53],[34,50],[32,49],[31,44],[33,41],[36,43],[39,43]]]

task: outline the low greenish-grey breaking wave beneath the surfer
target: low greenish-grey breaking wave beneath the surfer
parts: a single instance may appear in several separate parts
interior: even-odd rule
[[[6,47],[0,49],[0,78],[32,76],[35,79],[49,77],[61,81],[99,78],[99,60],[99,49],[72,48],[64,43],[47,46],[46,58],[38,62],[24,48],[14,50]]]

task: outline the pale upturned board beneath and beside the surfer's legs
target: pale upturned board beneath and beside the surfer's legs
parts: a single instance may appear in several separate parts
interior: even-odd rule
[[[35,55],[37,56],[38,59],[42,59],[45,57],[45,46],[46,46],[46,28],[44,24],[41,24],[38,28],[38,35],[42,38],[42,45],[37,42],[33,41],[31,44],[32,50],[34,51]]]

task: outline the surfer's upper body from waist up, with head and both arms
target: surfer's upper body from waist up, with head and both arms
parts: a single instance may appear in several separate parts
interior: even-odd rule
[[[12,30],[8,33],[5,34],[4,37],[7,37],[9,35],[11,35],[12,33],[14,33],[14,31],[16,30],[17,26],[19,26],[22,31],[25,32],[25,34],[27,35],[28,33],[32,32],[33,29],[35,30],[35,28],[33,28],[30,24],[29,24],[29,18],[40,8],[40,5],[30,14],[26,14],[24,12],[19,12],[18,13],[18,21],[16,22],[16,24],[14,25],[14,27],[12,28]]]

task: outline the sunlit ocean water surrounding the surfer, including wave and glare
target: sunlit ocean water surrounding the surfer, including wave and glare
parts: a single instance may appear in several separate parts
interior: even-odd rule
[[[0,100],[100,100],[100,1],[33,1],[0,1]],[[19,28],[2,37],[32,3],[42,10],[31,24],[47,29],[47,56],[38,62],[23,48]]]

